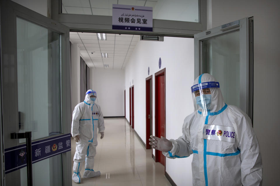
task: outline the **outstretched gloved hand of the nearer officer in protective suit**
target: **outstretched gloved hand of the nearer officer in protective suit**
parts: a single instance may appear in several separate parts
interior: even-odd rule
[[[159,138],[151,135],[149,141],[149,144],[153,149],[157,149],[163,152],[168,152],[172,149],[172,143],[165,137]]]

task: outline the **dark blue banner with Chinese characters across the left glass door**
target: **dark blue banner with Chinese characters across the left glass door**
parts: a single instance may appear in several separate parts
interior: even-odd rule
[[[32,142],[32,164],[71,151],[70,133]],[[5,174],[26,167],[26,144],[5,149]]]

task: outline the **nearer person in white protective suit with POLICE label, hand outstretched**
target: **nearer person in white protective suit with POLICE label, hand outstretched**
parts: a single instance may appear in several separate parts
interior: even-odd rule
[[[262,158],[250,118],[224,102],[217,80],[202,74],[191,87],[195,111],[177,140],[151,136],[168,158],[193,154],[192,185],[262,185]]]

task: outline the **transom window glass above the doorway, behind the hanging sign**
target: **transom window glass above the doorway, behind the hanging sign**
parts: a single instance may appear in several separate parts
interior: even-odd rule
[[[153,19],[199,22],[199,0],[62,0],[62,13],[112,16],[112,4],[153,7]]]

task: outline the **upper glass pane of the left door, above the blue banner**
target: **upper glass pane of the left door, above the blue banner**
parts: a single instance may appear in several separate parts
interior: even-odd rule
[[[17,18],[17,81],[19,132],[32,140],[61,133],[58,33]]]

